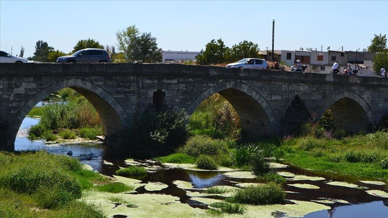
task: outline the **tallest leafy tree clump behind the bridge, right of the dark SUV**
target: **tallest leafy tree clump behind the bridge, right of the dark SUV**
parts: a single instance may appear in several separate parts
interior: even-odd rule
[[[128,62],[160,62],[162,53],[158,48],[156,38],[151,33],[140,33],[139,29],[128,26],[122,31],[116,33],[118,47],[124,53]]]

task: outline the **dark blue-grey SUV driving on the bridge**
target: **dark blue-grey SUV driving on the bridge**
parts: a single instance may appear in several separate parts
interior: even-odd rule
[[[85,48],[72,55],[58,57],[58,63],[110,63],[111,55],[104,49]]]

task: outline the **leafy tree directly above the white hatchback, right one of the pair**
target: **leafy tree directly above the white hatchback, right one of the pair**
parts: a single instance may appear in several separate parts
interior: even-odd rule
[[[247,57],[263,58],[263,55],[259,54],[259,48],[257,44],[244,40],[238,45],[232,46],[228,59],[229,61],[234,62]]]

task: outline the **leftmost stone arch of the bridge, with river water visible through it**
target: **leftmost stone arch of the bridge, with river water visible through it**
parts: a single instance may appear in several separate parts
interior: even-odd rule
[[[57,81],[56,83],[43,88],[36,93],[17,113],[17,116],[10,128],[10,139],[8,142],[15,141],[17,131],[29,111],[44,97],[54,93],[62,88],[70,87],[83,95],[94,106],[99,113],[105,135],[116,133],[122,129],[129,118],[120,103],[106,90],[86,80],[72,78],[68,80]]]

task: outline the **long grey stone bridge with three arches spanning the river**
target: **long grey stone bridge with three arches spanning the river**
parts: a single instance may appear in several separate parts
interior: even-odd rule
[[[369,130],[388,111],[388,79],[180,64],[0,64],[0,150],[44,97],[70,87],[85,96],[109,135],[147,109],[192,114],[214,93],[236,109],[243,137],[292,134],[331,109],[337,125]]]

